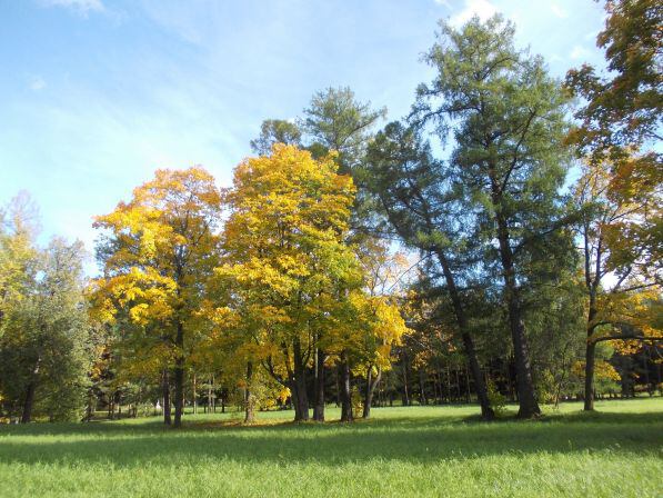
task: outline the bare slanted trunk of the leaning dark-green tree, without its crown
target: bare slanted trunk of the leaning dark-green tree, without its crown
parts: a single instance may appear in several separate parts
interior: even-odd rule
[[[483,376],[481,375],[481,366],[479,365],[479,358],[476,357],[474,340],[472,338],[472,335],[470,333],[468,317],[465,315],[465,309],[462,305],[461,296],[455,286],[455,279],[451,271],[449,261],[446,260],[442,251],[438,251],[438,260],[440,261],[442,272],[444,273],[444,280],[446,282],[449,297],[451,298],[451,303],[453,306],[453,312],[455,315],[456,325],[461,332],[461,339],[463,340],[463,349],[468,358],[468,366],[470,367],[470,371],[472,372],[472,379],[474,380],[476,398],[479,399],[479,405],[481,406],[481,418],[483,418],[484,420],[492,420],[495,418],[495,412],[491,408],[490,400],[488,399],[488,389],[485,387]]]

